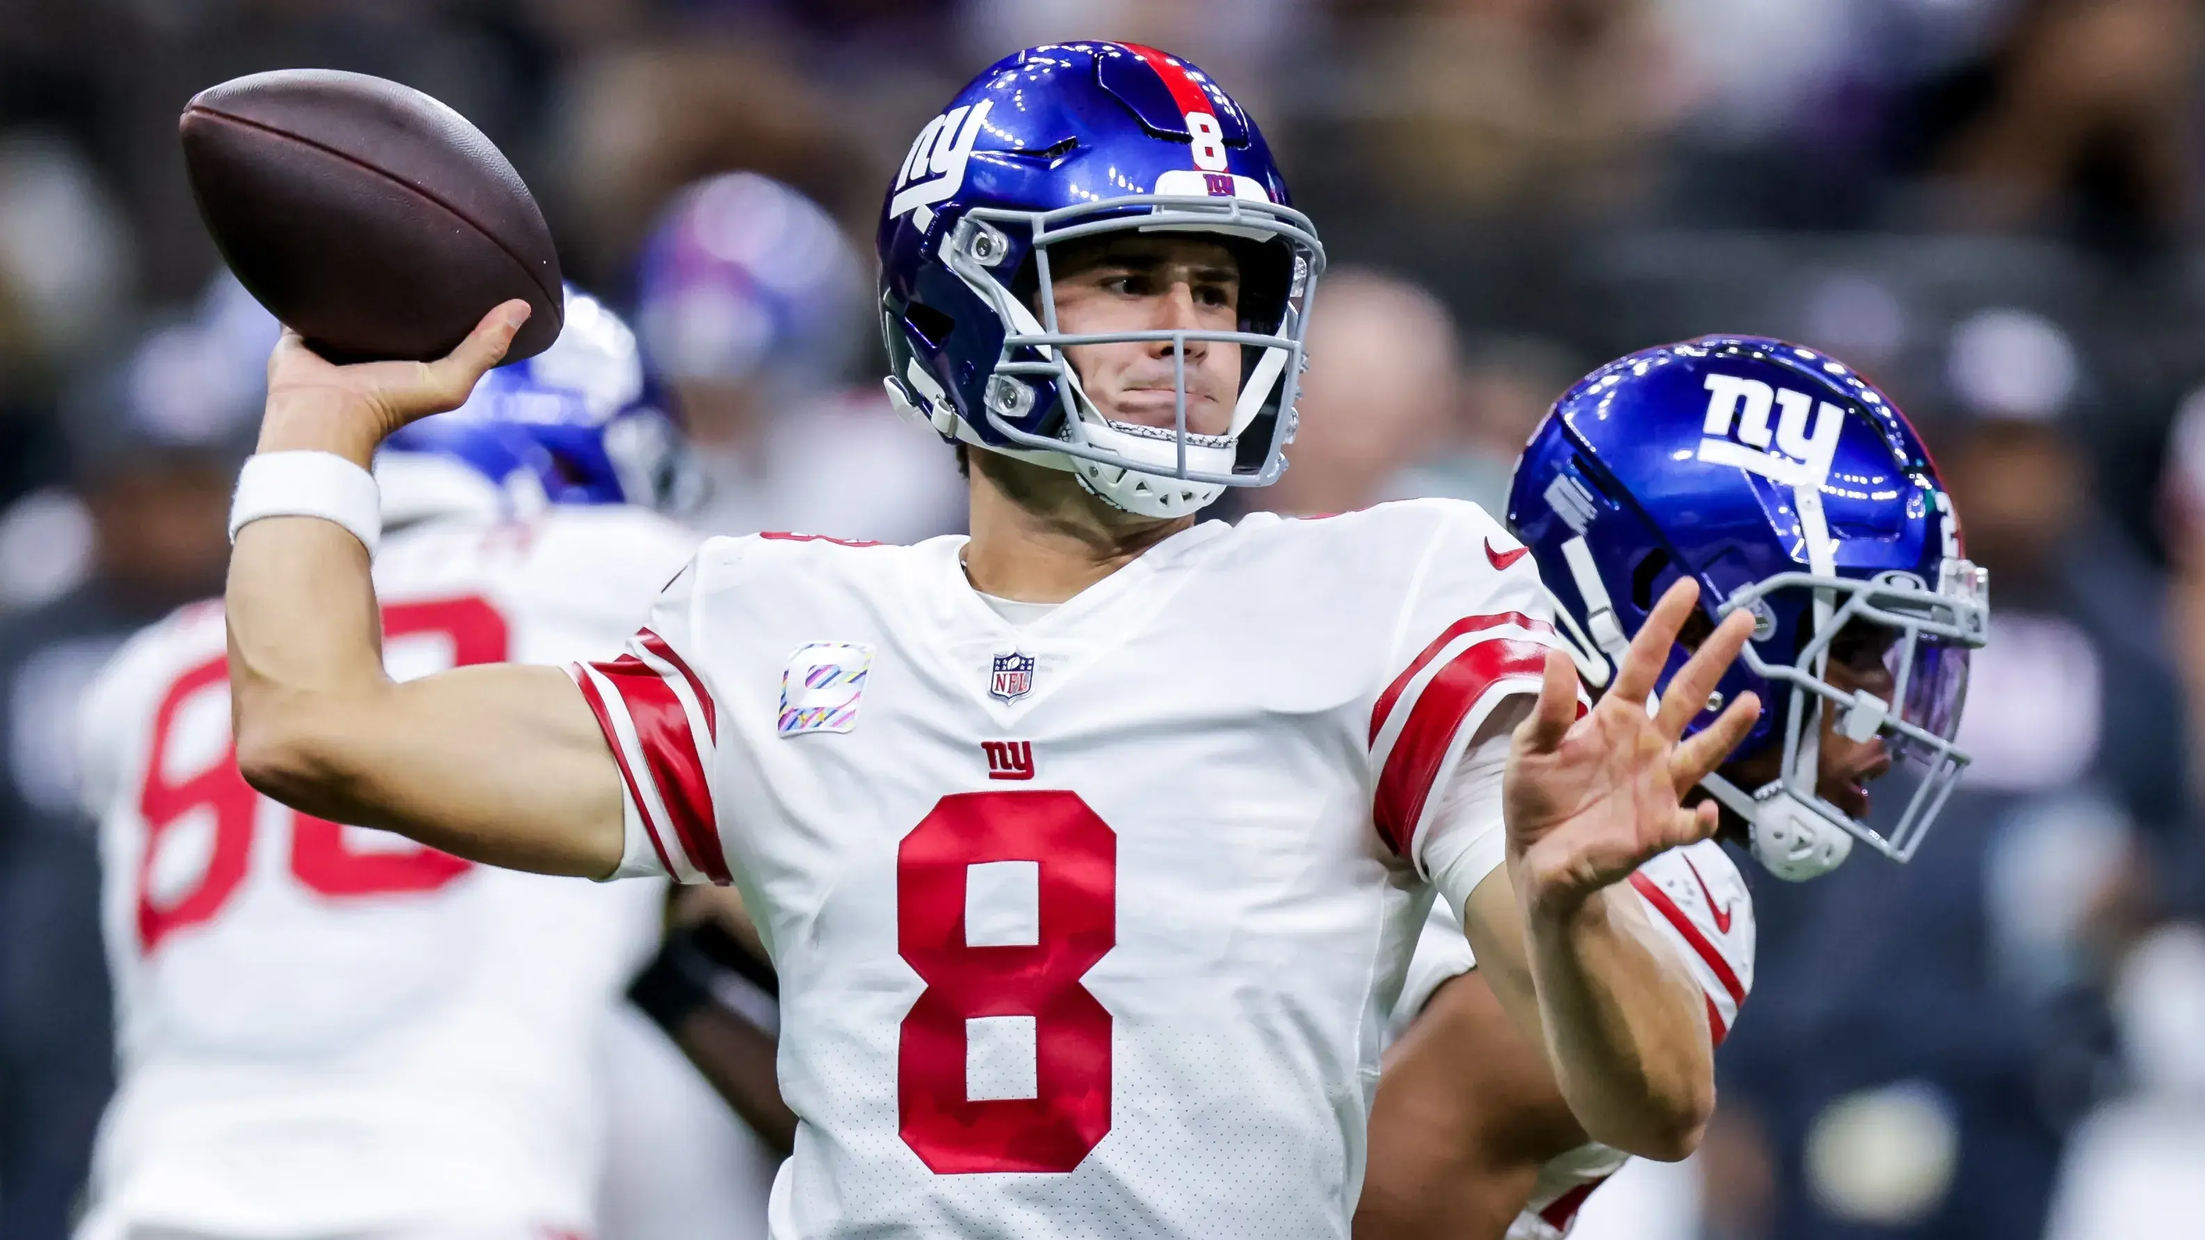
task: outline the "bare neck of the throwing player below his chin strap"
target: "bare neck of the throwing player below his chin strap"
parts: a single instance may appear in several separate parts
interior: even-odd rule
[[[1195,524],[1122,513],[1072,474],[992,452],[972,452],[970,491],[966,577],[1021,603],[1061,603]]]

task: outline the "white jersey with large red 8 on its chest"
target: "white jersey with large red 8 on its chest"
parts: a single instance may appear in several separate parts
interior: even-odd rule
[[[1347,1236],[1535,566],[1449,500],[1252,515],[1014,626],[961,548],[714,540],[576,667],[624,870],[732,877],[781,973],[772,1236]]]

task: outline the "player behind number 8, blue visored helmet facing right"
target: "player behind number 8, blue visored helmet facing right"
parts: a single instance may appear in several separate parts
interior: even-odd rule
[[[1954,736],[1987,590],[1929,454],[1876,388],[1773,339],[1636,352],[1557,401],[1517,460],[1508,524],[1555,584],[1592,692],[1678,577],[1698,581],[1700,606],[1671,665],[1724,614],[1755,617],[1707,703],[1766,703],[1702,780],[1724,839],[1790,881],[1837,868],[1854,841],[1914,852],[1967,764]],[[1912,797],[1872,817],[1868,786],[1894,764],[1912,769]],[[1753,987],[1744,879],[1702,839],[1649,859],[1629,890],[1698,980],[1720,1044]],[[1475,965],[1433,910],[1372,1108],[1356,1236],[1557,1240],[1625,1161],[1588,1141]]]

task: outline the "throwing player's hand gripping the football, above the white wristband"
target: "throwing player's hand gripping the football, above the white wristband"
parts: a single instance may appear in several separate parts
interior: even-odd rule
[[[362,361],[335,366],[284,328],[269,355],[269,403],[260,418],[260,452],[335,452],[368,465],[390,432],[456,410],[474,383],[514,344],[529,304],[494,306],[467,339],[437,361]]]

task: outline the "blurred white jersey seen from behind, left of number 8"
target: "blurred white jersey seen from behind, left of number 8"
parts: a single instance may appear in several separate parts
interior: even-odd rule
[[[639,509],[384,542],[397,678],[617,650],[695,537]],[[664,888],[470,866],[256,795],[220,603],[132,639],[82,720],[121,1081],[86,1233],[589,1233],[598,1037]]]

